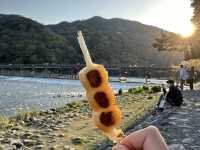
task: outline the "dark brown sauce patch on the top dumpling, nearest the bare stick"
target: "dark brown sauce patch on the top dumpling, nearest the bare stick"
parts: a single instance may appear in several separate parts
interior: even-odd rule
[[[87,79],[90,83],[90,86],[93,88],[99,87],[102,83],[102,79],[99,71],[91,70],[87,73]]]

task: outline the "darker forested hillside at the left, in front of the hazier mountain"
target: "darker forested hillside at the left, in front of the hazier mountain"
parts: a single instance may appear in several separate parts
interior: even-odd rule
[[[70,50],[63,37],[42,24],[15,15],[0,16],[0,63],[71,63]]]

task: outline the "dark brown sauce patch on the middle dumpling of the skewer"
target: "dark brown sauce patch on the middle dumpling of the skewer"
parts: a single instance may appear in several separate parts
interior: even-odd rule
[[[99,106],[101,106],[103,108],[107,108],[110,105],[109,100],[106,96],[106,93],[104,93],[104,92],[97,92],[94,95],[94,99],[99,104]]]

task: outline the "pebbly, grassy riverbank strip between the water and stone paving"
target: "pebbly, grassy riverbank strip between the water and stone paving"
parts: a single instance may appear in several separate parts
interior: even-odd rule
[[[158,93],[146,88],[131,89],[118,96],[123,113],[122,129],[151,111]],[[107,141],[93,125],[87,101],[69,103],[47,111],[20,113],[12,118],[0,118],[1,148],[27,149],[95,149]]]

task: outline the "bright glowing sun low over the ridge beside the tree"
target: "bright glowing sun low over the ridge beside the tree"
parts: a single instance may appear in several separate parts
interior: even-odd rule
[[[182,24],[177,31],[181,36],[189,37],[194,33],[195,27],[191,22],[189,22],[187,24]]]

